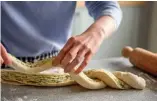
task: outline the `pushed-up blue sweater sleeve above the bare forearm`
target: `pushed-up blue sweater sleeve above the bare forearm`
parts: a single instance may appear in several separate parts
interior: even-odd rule
[[[86,7],[89,15],[98,19],[101,16],[111,16],[115,20],[116,29],[122,20],[122,11],[116,1],[86,1]]]

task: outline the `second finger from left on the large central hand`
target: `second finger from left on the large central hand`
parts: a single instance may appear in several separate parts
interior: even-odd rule
[[[68,64],[76,57],[77,52],[79,51],[81,45],[79,42],[75,43],[75,45],[72,47],[72,49],[67,52],[63,60],[61,61],[61,64],[66,68]]]

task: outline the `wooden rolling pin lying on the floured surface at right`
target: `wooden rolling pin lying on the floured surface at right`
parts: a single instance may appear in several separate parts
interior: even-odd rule
[[[152,53],[142,48],[133,49],[126,46],[122,50],[122,55],[129,58],[134,66],[157,76],[157,53]]]

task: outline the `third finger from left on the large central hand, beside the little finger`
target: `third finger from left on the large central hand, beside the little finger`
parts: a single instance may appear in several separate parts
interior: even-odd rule
[[[72,61],[71,64],[68,64],[68,66],[64,69],[65,72],[71,72],[85,57],[85,54],[88,52],[87,48],[84,48],[84,46],[79,50],[76,58]]]

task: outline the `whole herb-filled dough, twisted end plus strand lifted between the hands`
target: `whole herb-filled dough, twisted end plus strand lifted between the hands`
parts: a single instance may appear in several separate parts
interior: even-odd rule
[[[13,56],[11,58],[13,64],[10,66],[15,69],[18,68],[18,71],[1,70],[2,82],[10,81],[36,86],[66,86],[78,83],[88,89],[101,89],[106,86],[116,89],[144,89],[146,86],[143,78],[129,72],[111,73],[104,69],[93,69],[78,75],[73,72],[69,74],[40,74],[39,72],[52,68],[53,59],[26,64]]]

